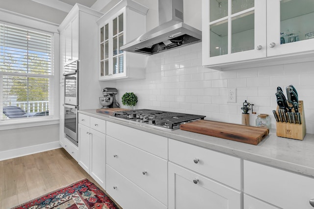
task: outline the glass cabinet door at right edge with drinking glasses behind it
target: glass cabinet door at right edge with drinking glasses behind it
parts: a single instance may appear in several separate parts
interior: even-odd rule
[[[267,55],[313,51],[314,0],[267,0]]]

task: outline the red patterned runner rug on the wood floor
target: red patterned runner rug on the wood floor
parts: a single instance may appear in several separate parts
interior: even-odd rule
[[[100,188],[84,179],[13,209],[118,209],[118,207]]]

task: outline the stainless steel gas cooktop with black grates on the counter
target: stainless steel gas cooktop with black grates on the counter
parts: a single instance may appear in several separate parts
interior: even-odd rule
[[[181,123],[204,119],[205,117],[185,113],[174,113],[147,109],[118,111],[114,112],[113,116],[171,130],[180,128]]]

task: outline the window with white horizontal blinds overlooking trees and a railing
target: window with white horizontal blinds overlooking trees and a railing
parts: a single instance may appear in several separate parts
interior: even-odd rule
[[[0,119],[52,115],[52,33],[0,23]]]

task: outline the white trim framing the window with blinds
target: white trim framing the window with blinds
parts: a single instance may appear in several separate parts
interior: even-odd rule
[[[6,119],[0,120],[0,131],[1,130],[10,130],[17,128],[27,128],[27,127],[35,127],[42,125],[52,125],[59,123],[59,32],[57,30],[58,25],[55,23],[49,23],[41,20],[37,20],[25,15],[20,15],[16,13],[12,13],[7,10],[3,10],[0,8],[0,23],[6,23],[13,26],[22,27],[25,29],[30,29],[34,31],[47,32],[52,34],[53,41],[53,60],[52,60],[52,73],[50,75],[50,79],[52,79],[52,95],[50,95],[50,100],[53,103],[53,116],[44,116],[44,117],[36,117],[36,118],[14,118],[14,119]],[[34,74],[30,74],[28,76],[33,76]],[[0,113],[2,114],[2,113]]]

